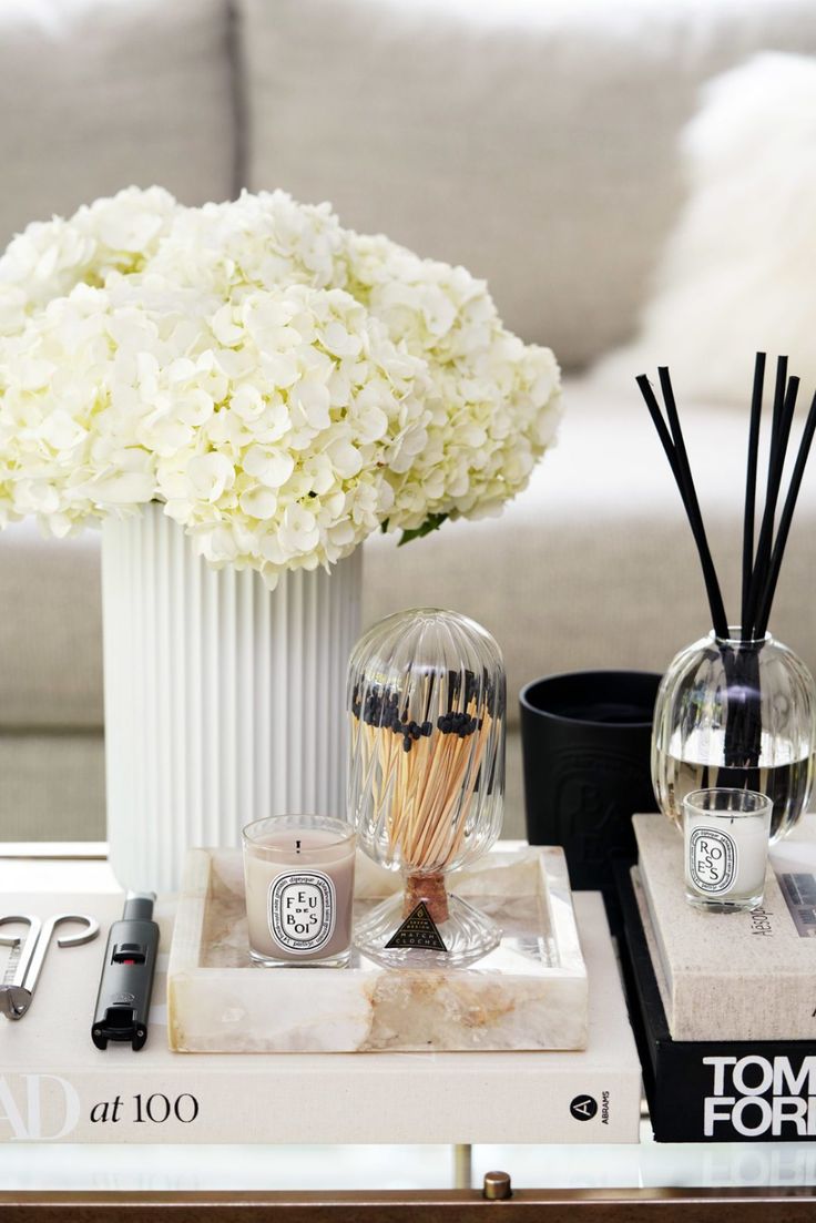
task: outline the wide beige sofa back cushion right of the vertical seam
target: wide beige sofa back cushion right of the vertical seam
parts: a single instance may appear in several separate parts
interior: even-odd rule
[[[239,0],[248,185],[487,276],[580,366],[632,330],[702,81],[816,49],[810,0]]]

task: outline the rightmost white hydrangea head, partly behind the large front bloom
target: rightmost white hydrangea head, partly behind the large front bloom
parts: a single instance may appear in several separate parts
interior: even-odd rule
[[[389,527],[497,512],[554,439],[553,353],[504,330],[484,281],[382,235],[350,235],[349,283],[391,339],[427,362],[434,388],[427,437],[391,467]]]

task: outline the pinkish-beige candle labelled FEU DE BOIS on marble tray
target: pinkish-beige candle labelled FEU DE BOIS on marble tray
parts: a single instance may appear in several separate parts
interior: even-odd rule
[[[323,816],[279,816],[243,829],[250,954],[270,967],[349,960],[356,835]]]

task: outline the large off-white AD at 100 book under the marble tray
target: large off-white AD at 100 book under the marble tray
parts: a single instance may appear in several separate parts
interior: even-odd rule
[[[4,907],[109,923],[121,901],[6,895]],[[91,1042],[104,931],[53,947],[29,1013],[0,1019],[0,1140],[636,1142],[640,1063],[603,903],[584,893],[575,909],[590,977],[580,1052],[179,1054],[164,1002],[172,906],[159,901],[164,954],[146,1048]]]

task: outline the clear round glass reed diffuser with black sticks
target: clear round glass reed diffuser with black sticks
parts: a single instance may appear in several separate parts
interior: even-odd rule
[[[655,709],[652,780],[661,810],[678,827],[696,789],[759,790],[773,801],[771,839],[806,810],[814,781],[816,691],[796,654],[768,632],[782,561],[816,430],[816,395],[785,483],[799,379],[777,361],[767,433],[763,500],[757,489],[766,356],[756,356],[743,515],[740,623],[729,624],[686,451],[669,371],[658,371],[664,412],[645,374],[646,401],[697,547],[713,630],[680,651]],[[762,501],[762,504],[760,504]],[[759,531],[757,531],[759,527]]]

